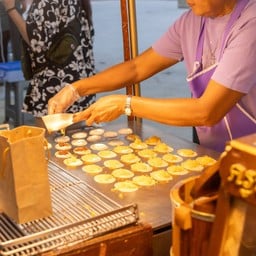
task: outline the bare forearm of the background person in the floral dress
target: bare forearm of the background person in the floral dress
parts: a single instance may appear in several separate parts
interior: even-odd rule
[[[15,8],[15,0],[2,0],[2,1],[9,17],[12,19],[13,23],[16,25],[23,39],[29,45],[30,42],[28,39],[26,22],[21,16],[21,14],[18,12],[18,10]]]

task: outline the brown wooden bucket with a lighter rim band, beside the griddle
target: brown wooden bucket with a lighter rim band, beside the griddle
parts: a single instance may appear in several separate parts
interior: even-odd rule
[[[177,183],[170,192],[172,256],[205,256],[215,218],[217,196],[191,197],[197,177]]]

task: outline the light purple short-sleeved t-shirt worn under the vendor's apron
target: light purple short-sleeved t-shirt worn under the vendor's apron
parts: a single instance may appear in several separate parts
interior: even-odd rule
[[[207,18],[205,29],[217,46],[221,47],[220,34],[229,15]],[[184,60],[187,74],[191,74],[196,56],[201,17],[189,10],[185,12],[153,45],[160,55]],[[256,117],[256,0],[250,0],[227,37],[226,48],[212,76],[216,82],[246,95],[240,104]],[[206,44],[207,42],[205,42]],[[208,47],[209,48],[209,47]],[[204,49],[207,49],[205,47]],[[214,50],[214,49],[213,49]],[[205,55],[205,52],[204,52]]]

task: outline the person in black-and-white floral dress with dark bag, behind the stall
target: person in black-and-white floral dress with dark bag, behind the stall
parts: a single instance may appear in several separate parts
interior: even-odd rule
[[[21,0],[21,15],[15,0],[2,2],[22,37],[23,72],[29,80],[23,111],[40,123],[53,95],[95,74],[91,4],[89,0]],[[95,94],[86,95],[68,112],[81,111],[94,101]]]

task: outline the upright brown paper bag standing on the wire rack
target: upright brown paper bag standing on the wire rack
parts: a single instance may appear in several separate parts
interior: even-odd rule
[[[52,214],[45,129],[0,131],[0,209],[17,223]]]

